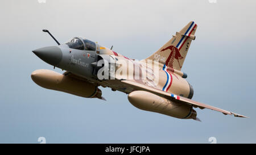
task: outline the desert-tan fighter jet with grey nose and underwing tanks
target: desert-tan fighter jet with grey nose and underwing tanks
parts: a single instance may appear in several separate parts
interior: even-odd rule
[[[102,97],[98,88],[110,87],[128,94],[133,106],[179,119],[197,118],[194,108],[208,108],[225,115],[247,118],[192,100],[193,87],[181,72],[191,41],[196,39],[197,24],[189,22],[158,51],[143,60],[134,60],[84,37],[74,37],[68,43],[35,49],[48,64],[65,70],[63,74],[39,69],[32,80],[46,89],[63,91],[84,98]],[[104,99],[105,100],[105,99]]]

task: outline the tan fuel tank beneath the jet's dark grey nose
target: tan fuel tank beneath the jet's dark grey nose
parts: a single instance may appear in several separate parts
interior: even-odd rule
[[[64,76],[48,69],[38,69],[32,72],[32,80],[41,87],[51,90],[63,91],[84,98],[99,98],[101,90],[89,82]]]

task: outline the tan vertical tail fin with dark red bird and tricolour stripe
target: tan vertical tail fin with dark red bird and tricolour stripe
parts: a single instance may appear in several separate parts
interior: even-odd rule
[[[146,60],[159,60],[160,64],[168,66],[171,70],[181,70],[192,40],[195,40],[197,25],[189,22],[183,29],[176,32],[166,44]]]

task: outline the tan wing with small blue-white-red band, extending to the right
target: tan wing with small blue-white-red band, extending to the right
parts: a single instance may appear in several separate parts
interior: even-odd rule
[[[168,93],[166,91],[158,90],[158,89],[155,89],[153,87],[146,86],[146,85],[143,85],[143,84],[135,82],[135,81],[122,80],[121,82],[126,83],[130,87],[133,87],[133,89],[135,89],[135,90],[145,90],[145,91],[151,92],[153,94],[159,95],[161,97],[171,99],[171,100],[175,100],[176,102],[179,102],[179,103],[190,104],[193,107],[199,107],[201,109],[208,108],[210,110],[222,112],[224,115],[228,114],[228,115],[234,115],[234,116],[240,117],[240,118],[248,118],[247,116],[236,114],[236,113],[231,112],[231,111],[222,110],[221,108],[213,107],[213,106],[210,106],[208,104],[196,102],[195,100],[192,100],[192,99],[180,97],[178,95]]]

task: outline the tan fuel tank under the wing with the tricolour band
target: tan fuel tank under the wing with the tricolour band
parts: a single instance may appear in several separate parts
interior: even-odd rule
[[[184,103],[177,103],[148,91],[133,91],[128,95],[129,102],[133,106],[146,111],[158,112],[179,119],[195,119],[196,111],[192,106]]]

